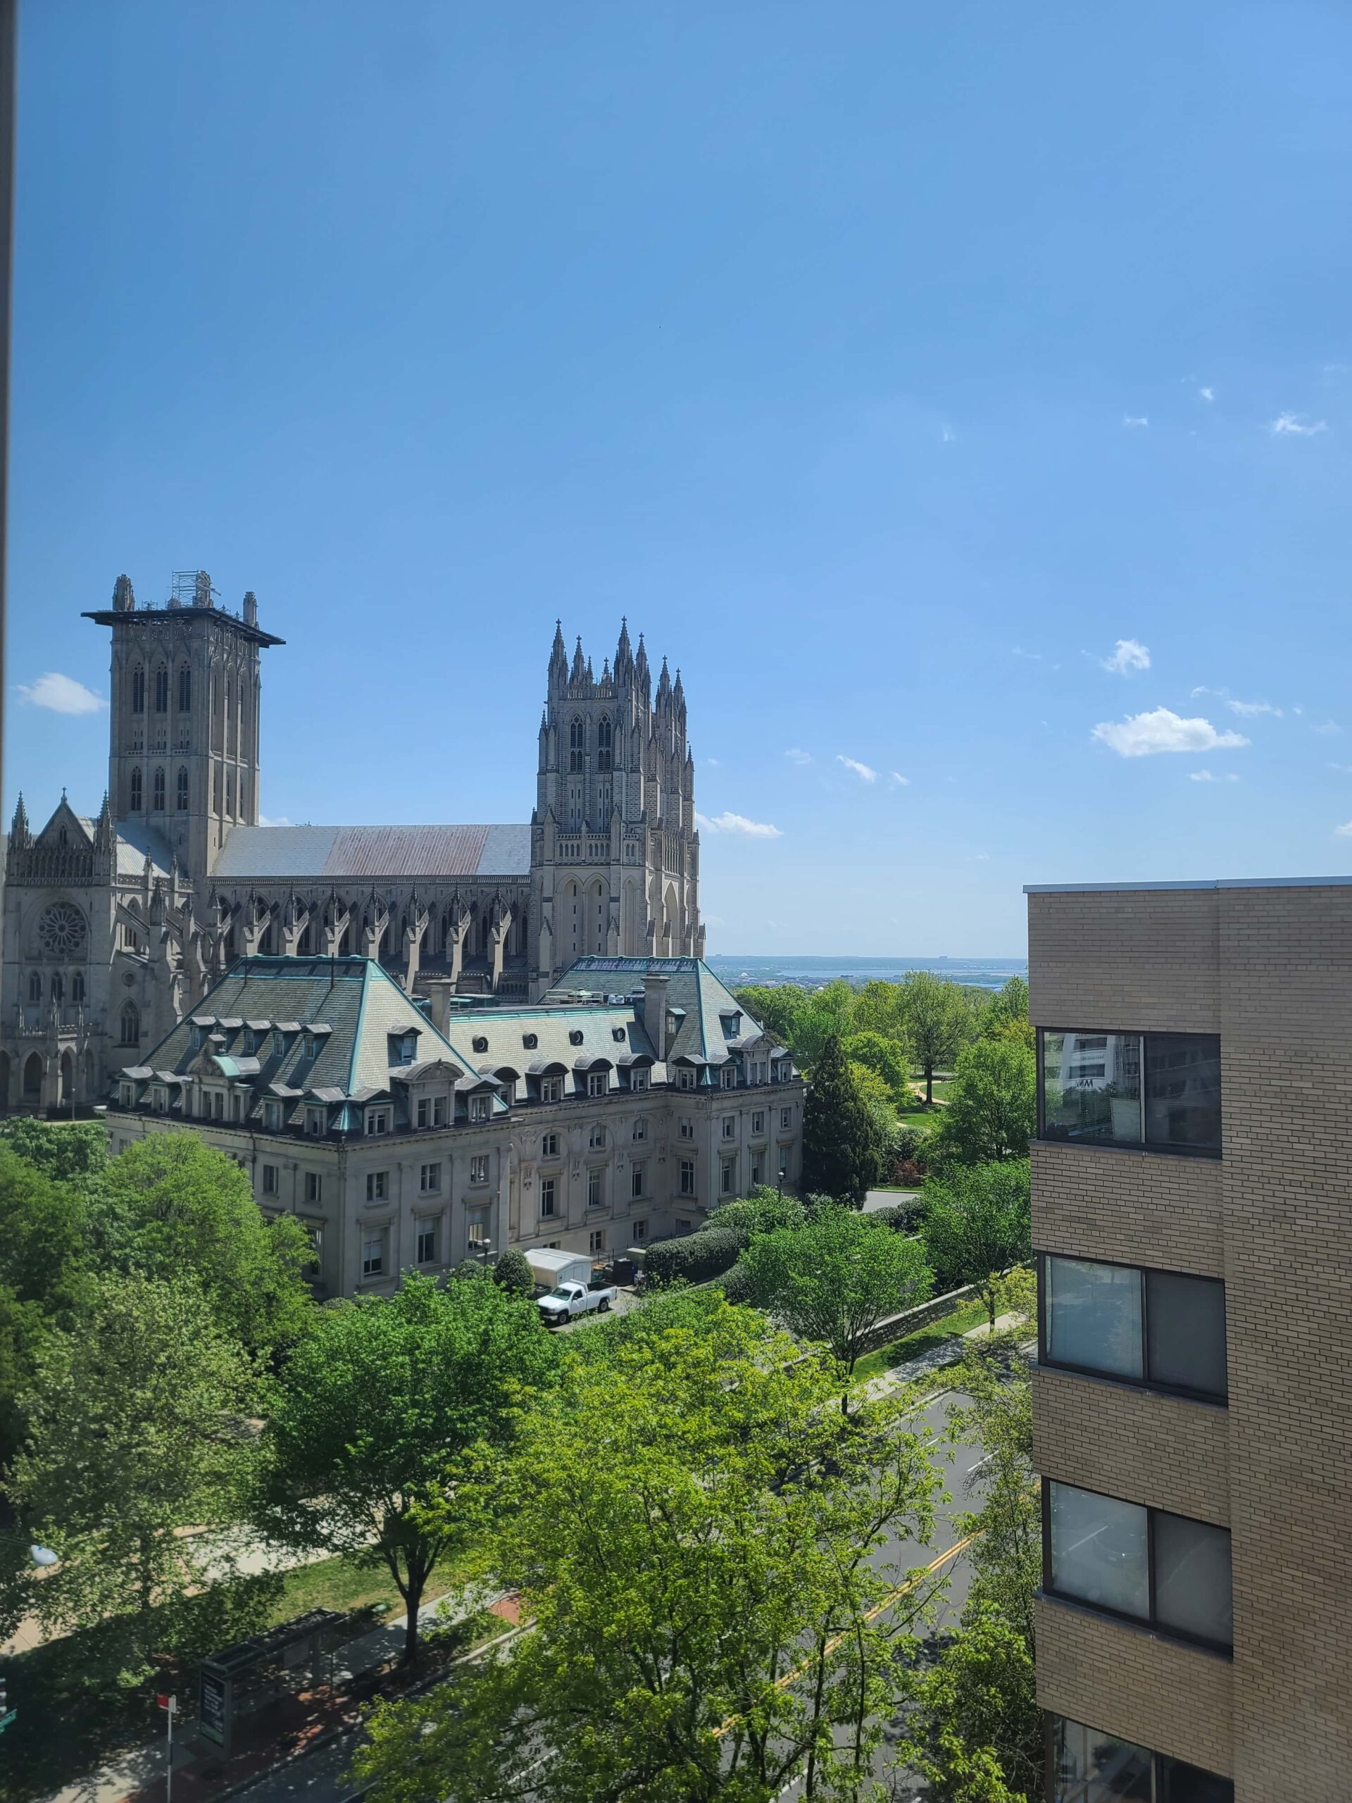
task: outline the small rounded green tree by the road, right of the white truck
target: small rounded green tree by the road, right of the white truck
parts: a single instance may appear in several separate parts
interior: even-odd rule
[[[757,1235],[741,1271],[750,1300],[800,1340],[827,1345],[847,1377],[878,1322],[925,1302],[932,1286],[916,1240],[849,1208]]]

